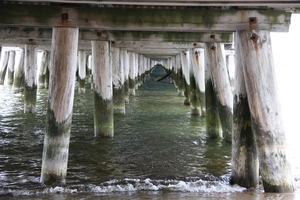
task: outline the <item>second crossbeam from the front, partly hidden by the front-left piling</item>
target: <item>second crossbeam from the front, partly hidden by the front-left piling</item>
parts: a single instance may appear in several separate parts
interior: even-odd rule
[[[51,28],[0,27],[0,39],[51,40]],[[151,41],[151,42],[232,42],[231,32],[153,32],[80,30],[79,40]]]

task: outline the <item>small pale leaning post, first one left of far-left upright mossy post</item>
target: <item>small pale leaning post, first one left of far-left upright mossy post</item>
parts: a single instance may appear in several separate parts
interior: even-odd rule
[[[13,92],[19,93],[24,90],[24,50],[16,51],[16,62],[13,82]]]

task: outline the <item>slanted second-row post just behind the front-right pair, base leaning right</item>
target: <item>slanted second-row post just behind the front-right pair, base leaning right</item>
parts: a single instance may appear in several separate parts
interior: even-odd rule
[[[220,43],[206,43],[206,65],[212,78],[213,93],[222,125],[223,138],[227,142],[232,140],[232,92],[223,57],[223,47]],[[207,103],[207,101],[206,101]]]

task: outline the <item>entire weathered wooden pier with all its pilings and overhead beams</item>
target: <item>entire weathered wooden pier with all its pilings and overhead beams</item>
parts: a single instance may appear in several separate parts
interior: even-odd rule
[[[19,91],[24,77],[24,112],[35,113],[37,88],[47,88],[49,80],[42,182],[66,181],[77,65],[79,93],[86,90],[86,69],[92,71],[94,136],[109,138],[113,114],[125,114],[129,95],[134,98],[151,69],[162,66],[191,114],[205,116],[208,139],[232,143],[232,184],[255,187],[260,176],[265,192],[294,191],[270,31],[288,31],[285,7],[297,12],[298,1],[278,1],[276,9],[258,2],[259,10],[244,9],[253,4],[241,1],[230,1],[230,9],[218,6],[224,1],[212,1],[213,7],[190,1],[190,8],[174,0],[180,9],[165,1],[152,8],[145,2],[139,8],[123,1],[112,8],[21,2],[0,3],[0,84]],[[224,55],[233,33],[234,80]],[[40,63],[38,50],[44,52]]]

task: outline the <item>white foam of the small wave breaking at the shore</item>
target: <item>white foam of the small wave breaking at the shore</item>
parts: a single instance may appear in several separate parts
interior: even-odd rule
[[[158,191],[168,190],[176,192],[201,192],[201,193],[234,193],[246,190],[237,185],[230,185],[225,181],[182,181],[182,180],[151,180],[151,179],[113,179],[104,183],[56,186],[42,189],[2,189],[0,194],[39,195],[39,194],[72,194],[72,193],[112,193],[133,191]]]

